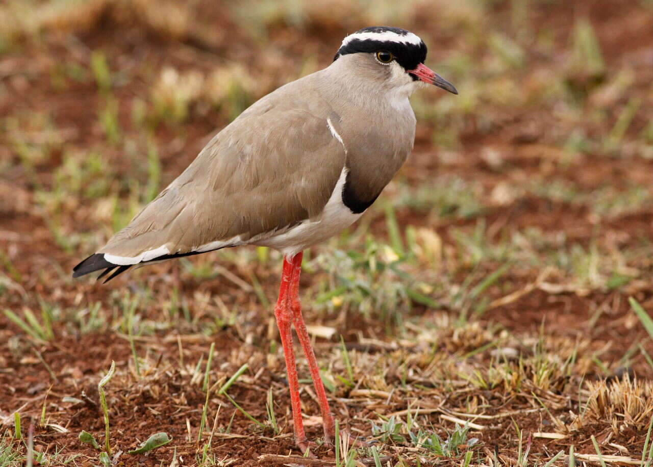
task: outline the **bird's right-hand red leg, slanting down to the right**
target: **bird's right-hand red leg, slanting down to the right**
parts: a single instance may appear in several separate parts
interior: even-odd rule
[[[293,265],[293,275],[289,290],[289,305],[293,310],[295,331],[300,344],[302,344],[302,349],[304,349],[304,355],[306,355],[306,360],[308,361],[308,369],[311,372],[311,378],[313,378],[315,395],[317,395],[317,400],[320,404],[325,430],[325,444],[330,445],[331,438],[335,436],[336,433],[334,419],[328,406],[327,393],[325,392],[325,387],[322,383],[322,378],[320,377],[319,367],[317,366],[317,360],[315,359],[315,352],[313,352],[313,347],[311,346],[311,339],[308,336],[308,331],[306,331],[306,324],[304,323],[304,317],[302,316],[302,306],[299,300],[299,275],[302,270],[302,256],[303,253],[299,252],[291,260]]]

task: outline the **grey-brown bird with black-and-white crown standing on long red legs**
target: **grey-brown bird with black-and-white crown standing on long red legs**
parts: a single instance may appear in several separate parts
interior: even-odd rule
[[[342,40],[326,68],[287,83],[249,106],[125,228],[73,269],[73,277],[223,248],[257,245],[283,254],[274,314],[288,376],[296,447],[302,423],[292,328],[319,401],[324,443],[334,415],[302,316],[303,251],[355,222],[413,149],[409,96],[453,84],[426,65],[426,44],[398,27],[364,27]],[[109,275],[110,274],[110,275]]]

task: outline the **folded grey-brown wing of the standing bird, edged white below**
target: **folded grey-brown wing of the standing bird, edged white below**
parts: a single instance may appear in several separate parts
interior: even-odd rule
[[[283,231],[319,216],[344,163],[322,117],[287,107],[242,115],[99,253],[137,264]]]

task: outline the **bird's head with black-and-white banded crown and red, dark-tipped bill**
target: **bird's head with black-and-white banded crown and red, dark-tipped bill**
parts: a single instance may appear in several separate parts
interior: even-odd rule
[[[453,84],[424,65],[426,44],[406,29],[364,27],[343,39],[334,61],[338,59],[407,93],[428,83],[458,94]]]

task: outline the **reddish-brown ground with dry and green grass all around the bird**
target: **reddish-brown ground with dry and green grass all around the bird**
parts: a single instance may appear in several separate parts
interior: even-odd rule
[[[306,253],[332,408],[377,442],[300,459],[277,252],[108,286],[70,270],[216,128],[377,23],[419,33],[460,95],[413,98],[406,167]],[[652,24],[646,1],[0,5],[0,466],[650,466]]]

